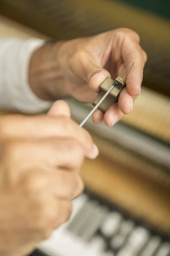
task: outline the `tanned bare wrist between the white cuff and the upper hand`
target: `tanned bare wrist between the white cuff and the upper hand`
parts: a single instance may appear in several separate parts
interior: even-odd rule
[[[29,84],[35,95],[45,101],[56,100],[69,96],[63,86],[64,76],[59,64],[59,49],[64,44],[49,43],[37,49],[29,66]]]

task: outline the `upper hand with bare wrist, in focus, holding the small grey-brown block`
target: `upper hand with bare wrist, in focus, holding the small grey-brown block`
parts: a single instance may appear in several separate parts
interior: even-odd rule
[[[123,114],[130,114],[142,84],[146,53],[139,35],[130,29],[115,29],[88,38],[47,44],[34,52],[29,69],[29,83],[34,93],[44,100],[74,97],[93,102],[106,77],[115,79],[125,61],[135,61],[126,87],[105,115],[97,110],[94,123],[112,126]],[[127,70],[128,71],[128,70]]]

